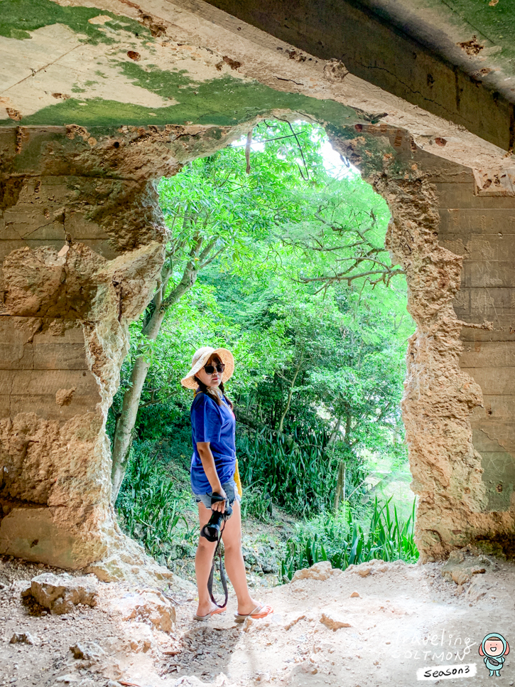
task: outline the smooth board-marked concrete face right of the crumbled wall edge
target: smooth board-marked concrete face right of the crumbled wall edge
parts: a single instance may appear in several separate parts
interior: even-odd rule
[[[481,456],[484,533],[512,552],[515,511],[515,198],[477,193],[467,174],[436,183],[440,244],[462,256],[460,292],[453,306],[467,324],[460,366],[481,386],[483,403],[472,415],[472,443]],[[492,187],[489,187],[492,188]],[[499,532],[499,527],[500,532]]]

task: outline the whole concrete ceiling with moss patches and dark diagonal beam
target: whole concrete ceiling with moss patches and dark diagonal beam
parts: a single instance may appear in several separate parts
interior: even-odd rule
[[[510,5],[0,0],[0,127],[235,126],[293,112],[329,130],[396,127],[446,159],[509,169]]]

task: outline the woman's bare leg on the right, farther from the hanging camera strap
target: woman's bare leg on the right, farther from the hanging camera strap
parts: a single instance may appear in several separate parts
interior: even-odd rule
[[[242,554],[242,514],[238,501],[232,503],[232,516],[225,523],[222,539],[225,549],[225,569],[236,592],[238,612],[250,613],[256,608],[258,602],[251,597],[246,584],[246,570]]]

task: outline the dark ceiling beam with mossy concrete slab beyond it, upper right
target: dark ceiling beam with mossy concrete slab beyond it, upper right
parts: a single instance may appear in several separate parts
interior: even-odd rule
[[[207,0],[512,149],[513,0]]]

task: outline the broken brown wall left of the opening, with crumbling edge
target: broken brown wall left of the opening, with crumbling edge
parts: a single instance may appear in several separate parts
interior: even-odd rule
[[[82,568],[120,538],[105,422],[163,262],[149,180],[229,133],[1,132],[0,553]]]

